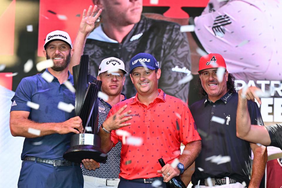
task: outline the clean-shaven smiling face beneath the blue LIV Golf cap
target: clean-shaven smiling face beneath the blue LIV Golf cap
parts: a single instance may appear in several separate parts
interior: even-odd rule
[[[151,95],[158,89],[158,79],[160,79],[161,70],[145,69],[144,67],[136,67],[132,70],[130,78],[134,84],[137,93],[142,95]]]

